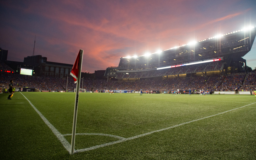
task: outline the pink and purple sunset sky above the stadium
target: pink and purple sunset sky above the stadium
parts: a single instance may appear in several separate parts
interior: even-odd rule
[[[1,0],[0,47],[7,60],[33,55],[82,72],[256,25],[256,0]],[[256,67],[256,42],[243,57]],[[87,71],[86,71],[87,70]]]

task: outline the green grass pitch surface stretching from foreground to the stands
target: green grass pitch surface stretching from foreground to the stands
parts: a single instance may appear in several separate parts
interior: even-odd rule
[[[61,133],[72,133],[75,93],[23,93]],[[256,159],[252,95],[80,93],[76,133],[133,137],[229,111],[169,130],[70,155],[21,93],[0,94],[0,159]],[[65,136],[71,143],[71,136]],[[77,135],[75,149],[117,141]]]

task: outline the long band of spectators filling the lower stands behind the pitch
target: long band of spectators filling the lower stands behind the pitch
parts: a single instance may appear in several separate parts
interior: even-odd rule
[[[72,77],[66,78],[35,77],[0,73],[0,87],[8,88],[10,80],[14,81],[15,87],[36,88],[41,91],[74,91],[76,84]],[[140,81],[109,81],[104,79],[83,79],[80,88],[86,91],[100,90],[200,90],[205,91],[250,91],[256,88],[256,73],[235,73],[228,75],[177,77],[169,79],[152,79]],[[83,86],[82,86],[83,85]]]

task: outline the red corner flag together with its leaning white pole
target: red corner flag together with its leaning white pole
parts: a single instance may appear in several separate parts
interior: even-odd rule
[[[74,109],[74,118],[73,118],[73,129],[72,129],[72,139],[71,139],[71,151],[70,154],[74,154],[75,149],[75,136],[76,136],[76,118],[77,118],[77,107],[78,107],[78,97],[79,97],[79,88],[80,88],[80,79],[81,79],[81,69],[83,61],[83,50],[80,49],[74,66],[70,75],[73,77],[76,83],[76,99],[75,99],[75,109]]]

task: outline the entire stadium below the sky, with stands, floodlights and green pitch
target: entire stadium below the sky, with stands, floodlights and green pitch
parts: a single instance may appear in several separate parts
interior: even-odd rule
[[[1,60],[1,156],[255,159],[256,70],[242,58],[255,36],[256,26],[248,27],[121,57],[101,76],[81,73],[74,155],[72,65],[47,62],[40,55],[23,63]],[[6,100],[11,79],[16,92]],[[177,89],[181,95],[168,94]],[[205,96],[197,95],[201,89]],[[140,90],[158,94],[140,96]]]

